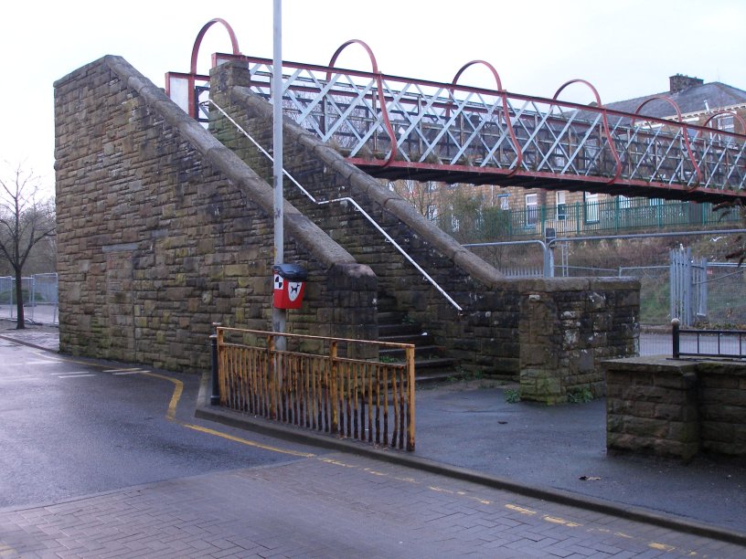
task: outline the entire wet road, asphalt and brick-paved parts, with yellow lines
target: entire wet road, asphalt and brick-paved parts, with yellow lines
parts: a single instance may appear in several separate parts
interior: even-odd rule
[[[743,556],[193,417],[197,378],[0,339],[0,556]]]

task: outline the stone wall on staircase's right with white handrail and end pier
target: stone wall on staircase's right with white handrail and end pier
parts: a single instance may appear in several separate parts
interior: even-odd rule
[[[271,106],[248,84],[248,69],[224,64],[213,70],[210,95],[271,152]],[[266,156],[218,111],[211,111],[210,119],[216,137],[269,179]],[[568,389],[602,395],[600,360],[636,352],[635,280],[506,280],[314,134],[288,119],[283,134],[285,167],[316,200],[354,198],[463,307],[456,311],[349,203],[317,206],[285,179],[293,205],[370,266],[378,289],[394,297],[465,369],[520,377],[524,397],[555,403],[566,400]],[[540,304],[529,304],[537,295]]]

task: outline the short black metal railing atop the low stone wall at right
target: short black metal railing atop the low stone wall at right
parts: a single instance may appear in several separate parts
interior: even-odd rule
[[[680,328],[678,319],[671,321],[671,326],[674,359],[679,359],[682,355],[721,359],[746,358],[746,331],[684,330]]]

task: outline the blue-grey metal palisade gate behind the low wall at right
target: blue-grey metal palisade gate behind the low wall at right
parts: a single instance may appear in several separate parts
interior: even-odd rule
[[[691,256],[691,248],[671,249],[671,318],[693,326],[707,317],[707,258]]]

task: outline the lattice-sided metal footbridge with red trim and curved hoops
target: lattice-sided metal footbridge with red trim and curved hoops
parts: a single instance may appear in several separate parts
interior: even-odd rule
[[[197,37],[188,73],[166,74],[166,93],[185,111],[208,119],[208,76],[197,74]],[[250,89],[271,97],[272,59],[214,54],[213,65],[240,60],[248,65]],[[346,47],[368,53],[370,69],[342,69]],[[464,71],[485,67],[494,89],[461,83]],[[613,195],[726,202],[746,195],[746,125],[738,132],[717,128],[715,113],[705,125],[645,116],[603,106],[583,79],[563,84],[551,99],[507,91],[496,69],[473,60],[449,83],[390,76],[378,69],[368,45],[347,41],[325,66],[283,62],[284,114],[376,177],[470,184],[517,185]],[[588,88],[590,105],[561,100],[570,86]],[[739,133],[740,132],[740,133]]]

